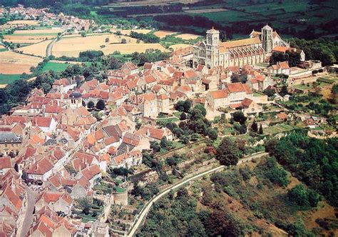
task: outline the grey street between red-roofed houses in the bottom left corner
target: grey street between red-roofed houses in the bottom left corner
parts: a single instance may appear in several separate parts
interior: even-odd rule
[[[17,236],[25,237],[26,233],[28,233],[29,228],[31,227],[31,223],[33,223],[33,211],[35,205],[35,193],[31,190],[31,188],[26,186],[26,193],[27,193],[27,206],[26,206],[26,213],[23,213],[24,221],[22,226],[19,226]]]

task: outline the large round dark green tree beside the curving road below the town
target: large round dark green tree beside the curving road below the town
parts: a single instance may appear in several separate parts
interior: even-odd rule
[[[220,145],[216,149],[216,158],[220,161],[220,164],[224,166],[235,166],[237,165],[240,150],[236,143],[230,138],[223,138]]]

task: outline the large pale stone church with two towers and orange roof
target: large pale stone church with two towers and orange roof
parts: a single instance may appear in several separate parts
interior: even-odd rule
[[[206,41],[198,42],[193,49],[193,66],[198,64],[213,68],[215,66],[244,66],[265,62],[275,46],[290,45],[276,31],[266,25],[261,31],[252,31],[249,39],[220,41],[220,31],[210,29]]]

